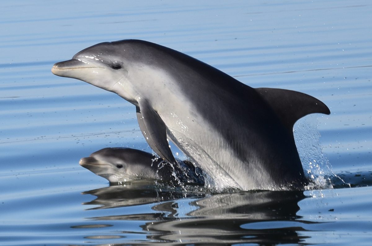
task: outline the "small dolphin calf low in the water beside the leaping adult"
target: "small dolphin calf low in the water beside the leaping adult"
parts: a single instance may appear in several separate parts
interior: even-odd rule
[[[79,164],[110,183],[137,179],[171,184],[204,185],[203,172],[189,161],[170,164],[155,155],[131,148],[104,148],[81,158]]]

